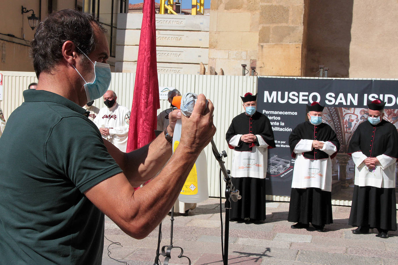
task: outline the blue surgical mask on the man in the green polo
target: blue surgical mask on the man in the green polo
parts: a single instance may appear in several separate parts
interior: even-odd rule
[[[79,47],[77,48],[80,50]],[[82,52],[82,50],[80,51]],[[84,52],[82,53],[88,58],[88,56]],[[88,60],[90,60],[90,58],[88,58]],[[111,84],[111,68],[109,64],[104,64],[97,61],[93,63],[92,60],[90,60],[90,62],[94,64],[94,74],[96,76],[92,83],[87,83],[87,81],[84,80],[76,67],[72,65],[76,72],[78,72],[78,74],[83,78],[84,82],[86,82],[84,84],[84,90],[86,91],[87,102],[102,97],[108,90],[109,85]]]

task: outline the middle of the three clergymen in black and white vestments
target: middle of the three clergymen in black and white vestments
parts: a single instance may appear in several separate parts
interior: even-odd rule
[[[290,195],[291,228],[308,228],[311,223],[323,232],[332,217],[332,159],[340,148],[334,130],[322,122],[324,106],[318,102],[307,105],[308,121],[300,123],[289,135],[292,157],[295,158]]]

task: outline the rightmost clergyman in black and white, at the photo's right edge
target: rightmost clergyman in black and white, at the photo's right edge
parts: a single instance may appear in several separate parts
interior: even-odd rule
[[[368,103],[369,118],[358,125],[349,142],[348,154],[355,164],[355,181],[348,224],[358,226],[354,234],[377,228],[381,238],[396,230],[395,168],[398,132],[383,120],[380,100]]]

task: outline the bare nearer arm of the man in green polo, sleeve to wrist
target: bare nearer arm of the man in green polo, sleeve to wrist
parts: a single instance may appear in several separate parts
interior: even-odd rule
[[[84,194],[124,232],[142,239],[170,211],[198,155],[179,146],[160,174],[141,189],[134,191],[120,173]]]

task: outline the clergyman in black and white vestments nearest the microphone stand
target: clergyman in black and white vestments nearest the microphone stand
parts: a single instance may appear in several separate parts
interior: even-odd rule
[[[232,184],[242,199],[231,202],[230,220],[265,220],[265,176],[268,148],[275,147],[269,119],[256,111],[257,95],[241,97],[245,112],[232,119],[226,141],[233,151]]]

